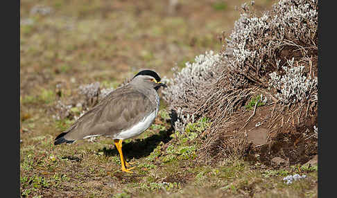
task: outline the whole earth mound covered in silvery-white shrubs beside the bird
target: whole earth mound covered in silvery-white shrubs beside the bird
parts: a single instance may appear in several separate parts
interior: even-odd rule
[[[305,163],[317,154],[317,1],[281,0],[260,17],[246,3],[241,11],[220,53],[196,57],[168,80],[175,129],[210,118],[202,161]]]

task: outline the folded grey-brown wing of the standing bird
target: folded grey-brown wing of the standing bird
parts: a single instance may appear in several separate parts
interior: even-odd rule
[[[112,136],[155,111],[154,105],[143,93],[115,91],[69,127],[64,138],[76,141],[86,136]]]

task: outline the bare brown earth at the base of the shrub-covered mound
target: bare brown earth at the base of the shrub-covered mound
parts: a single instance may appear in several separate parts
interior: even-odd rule
[[[279,157],[285,165],[303,164],[318,154],[317,108],[263,106],[231,116],[227,125],[207,134],[200,159],[209,164],[234,157],[273,165]]]

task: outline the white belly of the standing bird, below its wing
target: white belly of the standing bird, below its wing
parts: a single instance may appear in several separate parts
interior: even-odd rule
[[[130,129],[126,129],[125,131],[116,134],[116,136],[113,138],[124,140],[140,135],[142,132],[148,129],[148,127],[150,127],[150,125],[153,123],[153,120],[155,120],[155,116],[157,116],[157,112],[153,111],[153,113],[141,120],[139,123],[137,123],[137,125],[134,125]]]

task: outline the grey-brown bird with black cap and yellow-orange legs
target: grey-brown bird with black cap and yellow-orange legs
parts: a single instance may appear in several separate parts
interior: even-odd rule
[[[121,170],[132,173],[122,152],[122,142],[139,136],[152,125],[159,111],[160,87],[167,87],[152,70],[139,71],[127,84],[114,89],[85,112],[68,129],[56,136],[54,145],[71,144],[83,138],[113,139],[121,159]]]

